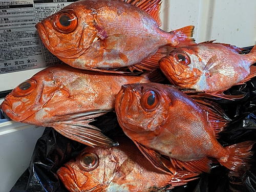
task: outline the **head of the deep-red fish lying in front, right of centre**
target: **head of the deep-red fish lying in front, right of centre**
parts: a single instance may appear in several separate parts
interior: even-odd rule
[[[117,94],[119,124],[135,132],[154,131],[164,123],[170,102],[158,83],[125,84]]]

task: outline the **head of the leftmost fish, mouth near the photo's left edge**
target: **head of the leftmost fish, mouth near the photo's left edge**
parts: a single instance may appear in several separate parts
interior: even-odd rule
[[[36,113],[44,109],[59,89],[56,79],[50,69],[45,69],[35,74],[30,79],[20,83],[6,97],[0,108],[14,121],[41,125],[44,121],[38,116],[38,123],[32,120]]]

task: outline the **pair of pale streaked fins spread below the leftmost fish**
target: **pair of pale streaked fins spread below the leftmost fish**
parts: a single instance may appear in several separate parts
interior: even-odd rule
[[[53,128],[63,136],[92,147],[117,146],[117,142],[113,141],[109,137],[106,137],[97,127],[89,124],[90,122],[94,121],[95,117],[103,115],[109,111],[110,110],[97,110],[79,114],[55,116],[54,118],[56,123],[53,124]]]

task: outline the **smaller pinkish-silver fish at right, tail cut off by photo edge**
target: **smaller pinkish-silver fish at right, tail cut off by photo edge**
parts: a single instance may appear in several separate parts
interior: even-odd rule
[[[177,48],[159,61],[160,69],[176,86],[223,98],[223,91],[256,76],[256,46],[248,54],[235,46],[203,42]]]

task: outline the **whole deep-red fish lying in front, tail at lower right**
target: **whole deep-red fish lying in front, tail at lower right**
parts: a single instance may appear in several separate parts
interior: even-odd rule
[[[211,158],[234,171],[245,168],[255,142],[223,147],[216,139],[212,119],[224,119],[207,108],[159,83],[124,85],[115,104],[124,133],[156,167],[165,170],[159,158],[164,155],[191,172],[209,172]]]

